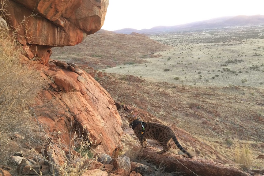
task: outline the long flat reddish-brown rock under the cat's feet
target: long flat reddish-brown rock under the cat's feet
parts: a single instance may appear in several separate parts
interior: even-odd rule
[[[175,155],[170,152],[163,154],[156,153],[157,148],[149,147],[144,150],[142,157],[151,160],[157,165],[164,165],[168,172],[180,171],[181,174],[187,176],[210,175],[210,176],[249,176],[250,174],[243,172],[235,167],[225,166],[208,159],[198,157],[186,158],[183,155]]]

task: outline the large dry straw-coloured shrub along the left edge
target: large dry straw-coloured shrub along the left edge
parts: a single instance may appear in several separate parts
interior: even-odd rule
[[[9,144],[14,134],[19,134],[18,142],[34,139],[37,128],[36,123],[32,123],[29,104],[47,82],[32,69],[32,62],[19,62],[24,57],[22,47],[1,28],[0,53],[0,155],[3,156],[3,151],[16,152]],[[6,159],[8,156],[1,157],[1,161]]]

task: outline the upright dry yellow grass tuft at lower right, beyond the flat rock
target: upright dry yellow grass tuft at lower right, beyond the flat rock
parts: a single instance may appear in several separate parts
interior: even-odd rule
[[[235,147],[235,162],[243,170],[250,170],[253,166],[253,152],[249,144],[236,144]]]

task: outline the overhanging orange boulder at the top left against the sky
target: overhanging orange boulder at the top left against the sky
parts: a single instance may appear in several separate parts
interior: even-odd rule
[[[51,47],[74,46],[104,24],[108,0],[9,0],[3,18],[28,57],[48,62]],[[1,6],[1,5],[0,5]]]

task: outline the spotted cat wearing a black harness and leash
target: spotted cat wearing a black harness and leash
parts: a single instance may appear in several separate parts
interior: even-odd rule
[[[141,150],[147,148],[147,139],[156,140],[157,143],[163,148],[158,151],[158,154],[163,152],[167,152],[171,148],[170,141],[171,139],[175,142],[176,146],[185,154],[187,154],[190,158],[192,157],[190,153],[188,153],[184,148],[179,144],[175,133],[173,130],[165,125],[150,123],[150,122],[142,122],[139,121],[140,118],[137,118],[137,112],[133,114],[128,114],[126,119],[130,123],[130,127],[134,130],[135,135],[138,137]]]

